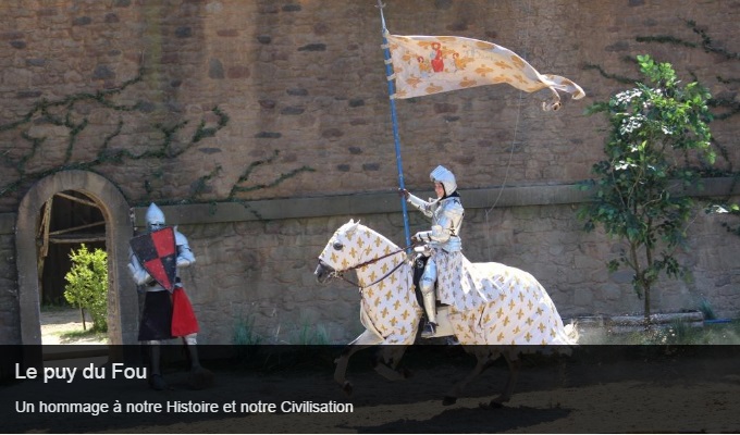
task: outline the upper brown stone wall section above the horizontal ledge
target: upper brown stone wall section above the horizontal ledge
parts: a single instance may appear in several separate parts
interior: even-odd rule
[[[396,165],[372,3],[3,3],[2,124],[24,120],[42,99],[75,103],[0,132],[8,158],[0,183],[20,181],[0,197],[0,211],[12,212],[37,174],[74,163],[104,174],[139,204],[393,189]],[[713,95],[732,100],[737,59],[724,52],[740,51],[737,9],[723,1],[390,2],[392,33],[493,40],[541,73],[571,78],[588,95],[558,112],[540,109],[546,91],[527,95],[508,86],[398,100],[408,185],[425,187],[430,167],[440,162],[469,188],[588,177],[601,158],[603,120],[583,111],[627,87],[620,79],[639,76],[628,57],[652,53],[673,62],[684,80],[696,77]],[[725,51],[706,52],[694,28]],[[219,126],[217,107],[229,116],[225,126],[194,140],[201,122]],[[73,127],[45,114],[58,121],[70,114],[71,126],[87,124],[71,146]],[[738,157],[735,120],[713,124],[730,161]],[[32,153],[34,142],[23,134],[45,141]],[[719,165],[728,167],[724,159]]]

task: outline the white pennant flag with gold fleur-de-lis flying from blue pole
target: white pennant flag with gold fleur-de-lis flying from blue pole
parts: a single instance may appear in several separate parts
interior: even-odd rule
[[[421,97],[473,86],[509,84],[526,92],[550,88],[578,100],[580,86],[540,74],[514,51],[492,42],[457,36],[385,35],[395,74],[394,98]]]

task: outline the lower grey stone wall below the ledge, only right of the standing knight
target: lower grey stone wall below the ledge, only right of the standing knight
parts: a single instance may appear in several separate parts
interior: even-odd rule
[[[254,321],[254,331],[272,343],[301,343],[307,330],[324,331],[332,343],[358,335],[357,288],[340,279],[318,285],[312,275],[331,234],[350,217],[403,244],[398,214],[181,226],[198,254],[184,281],[196,310],[207,319],[201,339],[223,343],[245,321]],[[733,260],[740,244],[723,234],[723,220],[698,215],[691,243],[679,252],[693,281],[663,281],[652,293],[655,311],[696,310],[706,299],[720,316],[740,313],[740,274]],[[412,231],[424,227],[418,215],[411,222]],[[605,243],[603,234],[583,233],[571,204],[468,209],[464,238],[471,261],[496,261],[532,273],[564,318],[642,312],[631,275],[606,271],[619,245]]]

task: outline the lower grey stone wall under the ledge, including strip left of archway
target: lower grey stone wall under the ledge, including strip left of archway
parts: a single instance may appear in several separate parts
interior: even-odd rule
[[[719,195],[731,185],[730,178],[707,181],[706,194]],[[633,294],[629,273],[606,271],[605,263],[619,245],[603,234],[583,233],[575,219],[575,208],[587,197],[574,186],[539,186],[550,203],[538,204],[532,195],[526,195],[532,188],[461,191],[466,256],[474,262],[502,262],[532,273],[564,318],[640,313],[642,302]],[[492,197],[499,198],[495,207],[481,201]],[[374,206],[368,209],[367,203]],[[246,206],[163,207],[169,222],[187,235],[197,257],[196,265],[184,270],[183,281],[201,323],[200,341],[231,344],[243,325],[249,325],[260,343],[274,344],[344,343],[359,334],[357,288],[342,281],[318,285],[312,272],[332,233],[350,217],[403,245],[397,195],[306,198],[292,204],[291,200],[264,200]],[[145,225],[145,210],[134,210],[133,225]],[[419,213],[410,217],[412,232],[428,225]],[[0,215],[0,237],[8,245],[13,220],[12,214]],[[690,243],[679,256],[693,279],[663,282],[653,294],[656,311],[695,310],[706,299],[720,316],[740,313],[740,274],[732,261],[740,243],[724,234],[721,222],[732,221],[698,211],[689,227]],[[5,284],[13,288],[13,253],[3,252],[8,253]],[[123,288],[123,297],[136,298],[135,290],[133,285]],[[8,343],[16,343],[17,299],[4,296],[0,301],[5,313],[0,333]]]

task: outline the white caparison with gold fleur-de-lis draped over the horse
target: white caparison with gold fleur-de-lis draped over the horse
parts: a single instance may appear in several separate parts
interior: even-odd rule
[[[360,245],[366,249],[360,249]],[[344,271],[398,249],[384,236],[350,221],[334,233],[320,259]],[[449,321],[461,344],[574,344],[552,299],[531,274],[499,263],[471,263],[461,252],[436,250],[433,254],[440,271],[437,297],[451,306]],[[416,299],[405,252],[356,272],[363,286],[362,324],[381,335],[383,344],[412,344],[422,309]]]

